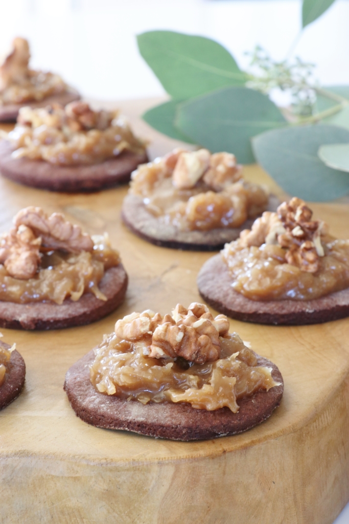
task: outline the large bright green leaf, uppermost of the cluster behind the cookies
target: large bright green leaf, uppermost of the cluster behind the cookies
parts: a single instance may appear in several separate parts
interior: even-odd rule
[[[167,93],[186,100],[247,80],[231,54],[218,42],[173,31],[138,35],[138,47]]]

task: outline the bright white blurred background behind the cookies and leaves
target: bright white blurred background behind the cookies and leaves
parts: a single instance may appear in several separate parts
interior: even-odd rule
[[[0,55],[29,39],[31,67],[62,74],[84,96],[126,100],[164,91],[135,36],[169,29],[216,39],[241,67],[256,44],[286,57],[300,31],[300,0],[0,0]],[[349,84],[349,1],[336,0],[303,31],[293,56],[317,64],[323,85]]]

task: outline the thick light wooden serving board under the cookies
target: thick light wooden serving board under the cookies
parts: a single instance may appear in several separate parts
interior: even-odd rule
[[[175,146],[138,118],[156,101],[123,103],[152,157]],[[3,126],[5,128],[6,126]],[[266,182],[247,167],[246,177]],[[211,254],[155,247],[120,221],[127,188],[69,195],[0,178],[1,231],[27,205],[60,211],[91,234],[107,231],[130,284],[106,319],[51,332],[2,330],[25,358],[20,397],[0,412],[0,521],[54,524],[330,524],[349,499],[349,320],[275,327],[231,321],[231,329],[277,364],[285,394],[273,416],[240,435],[202,442],[156,440],[94,428],[63,391],[66,370],[132,311],[170,312],[200,300],[196,275]],[[345,202],[316,215],[345,238]]]

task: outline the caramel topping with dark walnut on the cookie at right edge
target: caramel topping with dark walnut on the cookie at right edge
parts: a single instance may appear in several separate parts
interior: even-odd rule
[[[349,286],[349,241],[330,236],[298,198],[264,212],[222,257],[233,289],[252,300],[311,300]]]

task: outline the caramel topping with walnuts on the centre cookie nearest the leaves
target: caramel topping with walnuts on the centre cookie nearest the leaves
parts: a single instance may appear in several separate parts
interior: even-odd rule
[[[147,210],[183,231],[239,227],[266,209],[263,188],[242,178],[235,156],[175,149],[132,173],[130,193]]]

